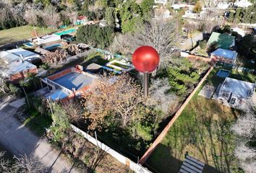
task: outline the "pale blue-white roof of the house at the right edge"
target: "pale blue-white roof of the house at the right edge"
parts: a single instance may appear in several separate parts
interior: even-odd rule
[[[238,97],[247,98],[250,93],[255,92],[255,84],[226,77],[221,90],[231,92]]]

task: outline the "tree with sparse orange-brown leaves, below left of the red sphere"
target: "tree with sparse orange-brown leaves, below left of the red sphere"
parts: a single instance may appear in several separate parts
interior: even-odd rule
[[[85,118],[90,120],[90,129],[101,128],[110,122],[125,127],[142,102],[140,86],[127,75],[102,77],[92,87],[85,99]],[[110,121],[108,121],[110,120]]]

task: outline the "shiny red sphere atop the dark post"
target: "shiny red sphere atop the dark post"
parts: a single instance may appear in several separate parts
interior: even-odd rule
[[[151,46],[141,46],[132,55],[133,65],[143,73],[154,71],[158,67],[159,60],[158,52]]]

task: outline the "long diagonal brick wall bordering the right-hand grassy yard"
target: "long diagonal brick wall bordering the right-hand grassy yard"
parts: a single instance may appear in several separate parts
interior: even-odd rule
[[[163,129],[163,131],[160,133],[160,135],[158,136],[158,138],[155,139],[155,141],[152,143],[152,145],[150,146],[150,148],[148,148],[148,150],[145,152],[145,154],[142,156],[142,158],[140,159],[139,163],[140,164],[144,164],[145,161],[148,159],[148,156],[150,156],[150,154],[155,150],[156,146],[158,145],[158,143],[161,143],[161,141],[163,140],[164,136],[166,136],[166,133],[168,132],[168,130],[171,128],[171,126],[174,124],[175,120],[179,117],[179,115],[182,114],[182,111],[184,110],[184,108],[187,106],[187,104],[189,103],[190,99],[192,99],[192,97],[194,96],[194,94],[197,92],[197,89],[200,88],[200,86],[202,85],[202,83],[205,81],[205,79],[207,78],[207,76],[210,74],[210,71],[213,70],[213,66],[211,66],[208,70],[208,72],[205,74],[205,76],[203,76],[202,80],[197,84],[197,86],[195,87],[195,89],[193,90],[193,92],[191,94],[189,94],[189,97],[187,97],[187,99],[185,100],[185,102],[183,103],[183,105],[179,108],[179,110],[175,113],[174,117],[172,117],[171,121],[166,125],[166,128]]]

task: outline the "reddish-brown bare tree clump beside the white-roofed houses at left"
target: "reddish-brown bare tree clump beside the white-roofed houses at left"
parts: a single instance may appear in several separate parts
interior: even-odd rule
[[[43,63],[48,65],[56,66],[58,63],[67,60],[67,51],[66,50],[55,50],[55,52],[46,53],[45,58],[43,58]]]

